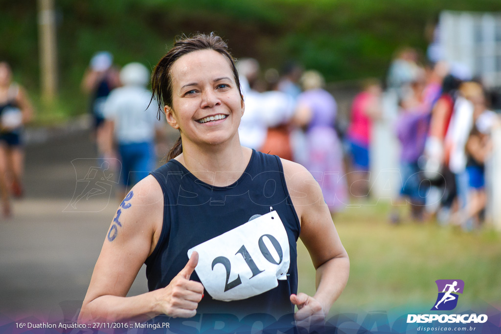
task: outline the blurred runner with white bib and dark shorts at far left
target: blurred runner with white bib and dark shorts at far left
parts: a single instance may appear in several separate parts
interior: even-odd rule
[[[12,82],[9,64],[0,62],[0,191],[3,213],[11,213],[9,192],[23,195],[23,125],[33,117],[33,107],[22,86]]]

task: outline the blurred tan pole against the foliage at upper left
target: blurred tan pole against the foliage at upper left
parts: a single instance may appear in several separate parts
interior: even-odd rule
[[[57,96],[58,84],[54,0],[38,0],[38,11],[42,99],[50,103]]]

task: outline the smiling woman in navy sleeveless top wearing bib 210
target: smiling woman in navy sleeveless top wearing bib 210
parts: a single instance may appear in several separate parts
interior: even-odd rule
[[[244,102],[226,44],[214,34],[179,40],[152,89],[180,138],[119,207],[80,319],[322,321],[347,282],[348,255],[313,176],[240,145]],[[297,292],[299,237],[314,296]],[[143,263],[149,292],[126,297]]]

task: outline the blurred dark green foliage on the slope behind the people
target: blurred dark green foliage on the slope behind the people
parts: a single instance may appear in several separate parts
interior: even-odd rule
[[[61,99],[81,113],[79,85],[92,55],[108,50],[119,66],[154,67],[180,34],[215,31],[235,57],[264,68],[296,60],[328,81],[383,77],[394,51],[424,52],[425,26],[442,10],[501,11],[498,0],[56,0]],[[0,59],[39,90],[34,0],[3,1]]]

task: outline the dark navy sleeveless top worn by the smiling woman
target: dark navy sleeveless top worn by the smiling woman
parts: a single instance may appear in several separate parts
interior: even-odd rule
[[[290,295],[298,289],[296,242],[300,222],[279,157],[253,150],[243,174],[227,187],[197,179],[176,160],[151,174],[162,188],[164,212],[160,238],[145,261],[150,291],[165,287],[184,268],[188,249],[267,214],[272,207],[289,239],[291,263],[287,280],[279,280],[276,288],[242,300],[215,300],[204,291],[197,313],[229,313],[239,318],[266,313],[279,318],[294,312]],[[200,281],[196,272],[190,279]]]

